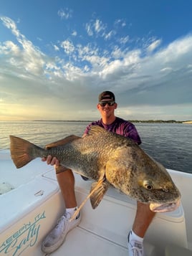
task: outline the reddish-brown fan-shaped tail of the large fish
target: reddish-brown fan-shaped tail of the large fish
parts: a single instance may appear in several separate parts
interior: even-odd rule
[[[23,138],[18,138],[16,136],[9,137],[11,158],[14,161],[16,168],[21,168],[34,158],[41,156],[40,152],[43,151],[43,148],[39,148]]]

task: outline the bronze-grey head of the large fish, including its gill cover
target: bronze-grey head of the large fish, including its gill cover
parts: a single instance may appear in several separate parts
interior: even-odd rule
[[[143,151],[136,149],[136,153],[126,148],[119,152],[116,150],[115,156],[106,164],[107,180],[124,194],[151,204],[153,211],[177,207],[181,194],[168,171]]]

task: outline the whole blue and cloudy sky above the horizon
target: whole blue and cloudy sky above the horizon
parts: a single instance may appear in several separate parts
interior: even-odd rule
[[[1,0],[0,120],[192,120],[191,0]]]

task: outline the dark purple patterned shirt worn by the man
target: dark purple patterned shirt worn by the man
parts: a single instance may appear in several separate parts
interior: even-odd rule
[[[89,132],[90,126],[92,125],[99,125],[102,128],[105,128],[105,130],[111,131],[112,133],[117,133],[124,137],[132,138],[133,141],[138,143],[138,145],[141,143],[140,136],[138,135],[138,131],[136,130],[135,125],[133,125],[133,123],[130,123],[129,121],[123,120],[122,118],[116,117],[115,121],[110,125],[105,125],[104,123],[102,123],[101,118],[100,120],[90,123],[85,129],[84,134],[87,134]]]

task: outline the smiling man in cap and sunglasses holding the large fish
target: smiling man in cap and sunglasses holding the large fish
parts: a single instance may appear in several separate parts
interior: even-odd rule
[[[97,109],[100,111],[101,119],[90,123],[83,136],[87,135],[91,125],[100,125],[107,131],[112,131],[113,133],[132,138],[133,141],[140,144],[140,136],[138,135],[138,131],[135,126],[133,123],[123,120],[122,118],[117,118],[115,116],[116,108],[117,103],[115,103],[115,95],[112,92],[105,91],[100,93]],[[62,245],[67,232],[80,223],[81,215],[79,214],[76,219],[69,222],[70,217],[77,210],[77,202],[75,199],[75,179],[72,174],[72,170],[59,166],[57,158],[52,158],[52,156],[48,156],[47,159],[42,158],[42,161],[47,161],[48,164],[56,165],[57,180],[66,206],[66,211],[57,222],[57,226],[52,229],[42,242],[42,251],[51,253]],[[129,256],[145,255],[143,250],[143,237],[154,215],[155,213],[150,211],[148,204],[143,204],[141,202],[137,203],[137,212],[135,214],[133,229],[128,234]]]

